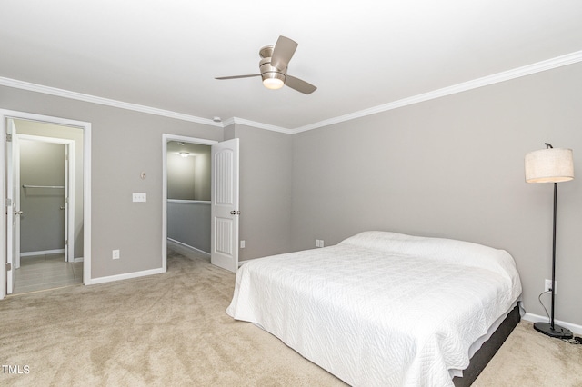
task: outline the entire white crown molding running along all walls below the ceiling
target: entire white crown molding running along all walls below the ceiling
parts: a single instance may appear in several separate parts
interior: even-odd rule
[[[232,117],[228,118],[222,123],[216,123],[211,119],[196,117],[195,115],[176,113],[169,110],[158,109],[156,107],[149,107],[142,104],[130,104],[122,101],[116,101],[113,99],[98,97],[95,95],[82,94],[71,92],[64,89],[58,89],[55,87],[45,86],[42,84],[31,84],[29,82],[18,81],[16,79],[5,78],[0,76],[0,85],[7,87],[14,87],[16,89],[28,90],[36,93],[56,95],[60,97],[75,99],[79,101],[85,101],[93,104],[104,104],[107,106],[118,107],[126,110],[133,110],[135,112],[141,112],[146,114],[161,115],[164,117],[175,118],[177,120],[189,121],[198,124],[207,124],[211,126],[226,127],[231,124],[243,124],[247,126],[253,126],[258,129],[266,129],[274,132],[284,133],[284,134],[297,134],[301,132],[306,132],[308,130],[316,129],[319,127],[339,124],[342,122],[354,120],[356,118],[361,118],[366,115],[377,114],[386,112],[388,110],[397,109],[399,107],[407,106],[410,104],[418,104],[431,99],[440,98],[443,96],[457,94],[466,92],[468,90],[477,89],[479,87],[487,86],[490,84],[498,84],[501,82],[509,81],[511,79],[519,78],[521,76],[527,76],[531,74],[541,73],[543,71],[551,70],[553,68],[562,67],[565,65],[573,65],[578,62],[582,62],[582,51],[576,51],[567,55],[557,56],[555,58],[547,59],[545,61],[537,62],[532,65],[525,65],[517,67],[512,70],[505,72],[491,74],[483,76],[481,78],[474,79],[472,81],[464,82],[461,84],[454,84],[452,86],[444,87],[442,89],[434,90],[425,94],[418,94],[408,98],[404,98],[395,102],[388,104],[381,104],[369,109],[360,110],[350,114],[344,114],[337,117],[329,118],[327,120],[319,121],[314,124],[307,124],[304,126],[296,127],[295,129],[284,128],[281,126],[276,126],[272,124],[257,123],[256,121],[249,121],[244,118]]]

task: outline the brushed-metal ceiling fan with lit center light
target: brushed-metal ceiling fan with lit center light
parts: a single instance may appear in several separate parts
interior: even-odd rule
[[[280,89],[286,84],[300,93],[311,94],[316,91],[316,86],[308,84],[295,76],[287,75],[287,65],[295,54],[296,48],[295,41],[285,36],[279,36],[275,45],[266,45],[258,52],[258,55],[261,56],[261,61],[258,64],[261,74],[220,76],[215,79],[224,80],[260,76],[263,78],[263,85],[267,89]]]

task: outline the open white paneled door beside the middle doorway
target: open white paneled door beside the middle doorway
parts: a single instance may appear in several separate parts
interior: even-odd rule
[[[212,145],[210,262],[238,269],[238,139]]]

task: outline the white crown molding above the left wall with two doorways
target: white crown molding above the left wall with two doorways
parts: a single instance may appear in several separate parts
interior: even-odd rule
[[[18,81],[16,79],[5,78],[0,76],[0,85],[14,87],[16,89],[27,90],[35,93],[50,94],[59,97],[75,99],[77,101],[89,102],[92,104],[104,104],[106,106],[118,107],[135,112],[161,115],[163,117],[175,118],[176,120],[189,121],[197,124],[206,124],[211,126],[223,127],[223,124],[216,123],[211,119],[196,117],[196,115],[182,114],[170,110],[158,109],[156,107],[145,106],[143,104],[131,104],[114,99],[103,98],[90,94],[76,93],[69,90],[58,89],[56,87],[45,86],[43,84],[32,84],[30,82]]]

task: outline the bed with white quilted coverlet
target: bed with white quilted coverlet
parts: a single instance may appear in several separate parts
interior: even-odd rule
[[[520,295],[504,250],[365,232],[244,263],[226,313],[350,385],[451,386]]]

